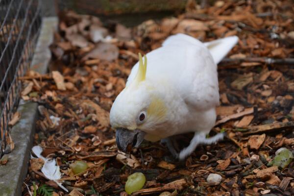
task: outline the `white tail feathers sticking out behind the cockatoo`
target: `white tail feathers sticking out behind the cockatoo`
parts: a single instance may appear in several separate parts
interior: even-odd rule
[[[204,45],[209,49],[213,60],[216,64],[221,62],[227,53],[238,43],[239,38],[237,36],[230,36],[211,42],[206,42]]]

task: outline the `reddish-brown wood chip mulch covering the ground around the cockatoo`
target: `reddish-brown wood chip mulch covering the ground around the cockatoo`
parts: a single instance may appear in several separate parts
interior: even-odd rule
[[[50,72],[29,71],[19,79],[22,98],[39,103],[34,143],[56,160],[69,192],[46,179],[44,162],[32,158],[24,196],[40,194],[34,191],[44,184],[53,188],[52,196],[126,196],[124,184],[133,172],[143,172],[147,181],[133,196],[293,195],[293,157],[286,166],[270,164],[281,147],[294,152],[293,1],[216,1],[201,8],[188,0],[184,13],[132,28],[73,12],[59,16]],[[138,53],[160,47],[175,33],[203,42],[239,37],[219,65],[221,104],[211,131],[227,137],[197,147],[184,162],[160,143],[145,142],[125,154],[109,125],[111,105]],[[191,137],[179,136],[180,145]],[[75,160],[86,161],[88,169],[74,174],[69,166]],[[210,173],[221,175],[221,182],[207,182]]]

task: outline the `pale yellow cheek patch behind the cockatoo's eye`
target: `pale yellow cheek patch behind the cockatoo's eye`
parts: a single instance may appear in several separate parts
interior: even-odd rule
[[[161,120],[165,118],[166,113],[167,108],[164,102],[160,98],[153,97],[147,109],[147,115]]]

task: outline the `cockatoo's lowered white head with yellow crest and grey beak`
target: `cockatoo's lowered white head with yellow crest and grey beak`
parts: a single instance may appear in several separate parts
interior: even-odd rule
[[[139,147],[146,133],[166,120],[166,104],[156,93],[155,85],[145,79],[146,71],[147,58],[144,56],[143,64],[139,54],[136,77],[118,95],[110,110],[110,124],[116,130],[117,146],[124,152]]]

